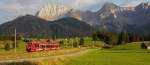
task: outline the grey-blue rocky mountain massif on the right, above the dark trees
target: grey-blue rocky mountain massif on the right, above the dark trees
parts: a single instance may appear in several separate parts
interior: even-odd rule
[[[97,12],[84,13],[82,20],[87,23],[90,22],[90,25],[99,28],[101,31],[120,32],[124,30],[138,33],[137,28],[143,27],[150,21],[150,4],[141,3],[136,7],[120,7],[113,3],[106,3]]]

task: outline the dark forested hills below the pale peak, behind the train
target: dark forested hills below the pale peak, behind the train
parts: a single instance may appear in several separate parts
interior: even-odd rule
[[[16,27],[17,34],[33,37],[76,37],[92,34],[92,27],[74,18],[62,18],[56,21],[46,21],[32,15],[18,17],[0,25],[0,35],[13,35]]]

